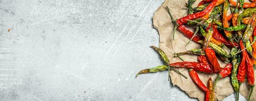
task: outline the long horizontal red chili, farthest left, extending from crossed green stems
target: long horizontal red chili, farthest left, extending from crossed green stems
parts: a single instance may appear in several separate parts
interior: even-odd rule
[[[177,62],[170,64],[171,67],[180,67],[187,69],[194,69],[196,71],[205,72],[205,73],[216,73],[212,70],[210,64],[198,63],[198,62]]]

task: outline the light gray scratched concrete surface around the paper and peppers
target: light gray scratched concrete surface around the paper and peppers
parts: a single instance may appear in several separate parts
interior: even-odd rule
[[[162,2],[0,0],[0,100],[196,100],[167,72],[135,78],[161,65]]]

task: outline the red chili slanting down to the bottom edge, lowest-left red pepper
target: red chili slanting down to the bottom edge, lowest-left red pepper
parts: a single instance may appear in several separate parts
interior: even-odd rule
[[[196,83],[196,85],[197,85],[198,87],[200,87],[200,88],[205,92],[205,100],[208,101],[208,100],[209,100],[210,91],[209,91],[209,89],[203,84],[203,82],[200,80],[200,78],[198,77],[197,72],[194,71],[193,69],[189,69],[189,75],[190,75],[191,79]]]

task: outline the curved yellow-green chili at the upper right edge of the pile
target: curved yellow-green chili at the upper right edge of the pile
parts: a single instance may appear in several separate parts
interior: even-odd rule
[[[243,13],[241,13],[239,16],[238,16],[238,24],[240,25],[241,24],[241,20],[243,17],[247,17],[247,16],[251,16],[253,13],[256,13],[256,8],[248,8],[248,9],[245,9],[243,11]]]

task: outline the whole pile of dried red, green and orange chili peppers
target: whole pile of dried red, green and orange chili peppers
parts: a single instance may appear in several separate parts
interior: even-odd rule
[[[166,11],[175,25],[173,33],[170,33],[173,34],[173,40],[176,30],[179,30],[190,39],[188,43],[192,40],[201,44],[201,48],[174,53],[173,56],[183,62],[170,63],[162,49],[151,46],[159,53],[164,65],[142,70],[136,77],[142,73],[173,70],[187,78],[175,69],[186,68],[194,83],[205,92],[205,100],[217,100],[214,89],[217,81],[225,77],[231,79],[236,100],[239,100],[240,85],[247,83],[250,86],[247,99],[250,100],[254,87],[253,67],[256,66],[256,1],[244,3],[244,0],[202,0],[193,8],[195,1],[188,0],[188,15],[177,20],[167,6]],[[196,26],[194,32],[189,30],[190,26]],[[197,55],[198,62],[185,62],[182,55]],[[226,63],[226,66],[221,67],[218,59]],[[205,85],[197,72],[216,73],[218,77],[214,81],[209,78]]]

